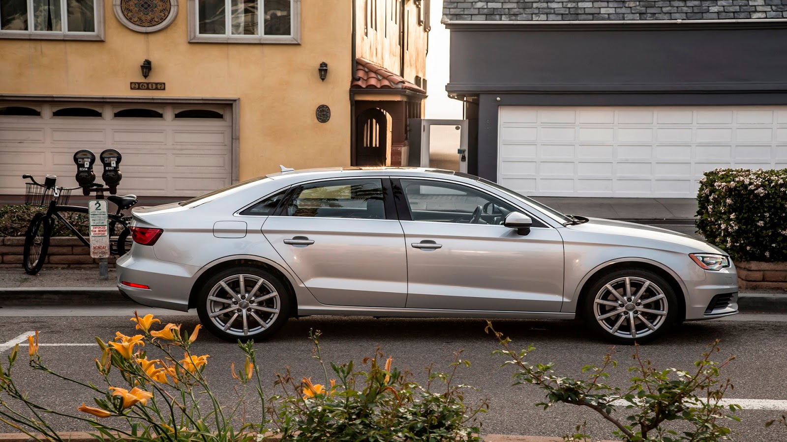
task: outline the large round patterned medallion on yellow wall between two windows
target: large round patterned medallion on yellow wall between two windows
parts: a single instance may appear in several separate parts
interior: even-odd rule
[[[137,32],[161,31],[178,15],[178,0],[113,0],[115,17]]]

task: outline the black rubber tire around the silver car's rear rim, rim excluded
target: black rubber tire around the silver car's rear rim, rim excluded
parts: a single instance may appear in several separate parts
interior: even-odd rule
[[[279,293],[279,317],[275,319],[275,321],[271,324],[271,326],[261,331],[260,333],[249,334],[249,336],[245,336],[245,337],[227,333],[224,330],[221,330],[218,326],[216,326],[216,324],[214,324],[209,317],[207,302],[211,289],[222,279],[235,274],[253,274],[255,276],[263,278],[265,281],[273,285],[273,287],[276,289],[276,293]],[[202,326],[205,326],[205,328],[208,329],[210,333],[212,333],[216,337],[219,337],[220,339],[224,339],[224,341],[231,341],[231,342],[237,342],[238,340],[244,342],[251,339],[255,341],[259,341],[261,339],[270,337],[273,333],[275,333],[277,330],[279,330],[279,328],[281,328],[284,325],[287,319],[289,319],[290,307],[291,307],[290,293],[288,293],[285,285],[281,281],[281,278],[279,278],[275,274],[265,271],[264,269],[261,269],[260,267],[251,267],[251,266],[232,267],[224,271],[219,271],[216,274],[212,275],[210,278],[208,278],[207,281],[205,281],[205,284],[202,285],[197,296],[197,314],[199,315],[199,319],[200,322],[202,323]]]

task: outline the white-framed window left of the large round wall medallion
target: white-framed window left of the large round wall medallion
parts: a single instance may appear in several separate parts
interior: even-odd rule
[[[0,0],[0,38],[104,39],[100,0]]]

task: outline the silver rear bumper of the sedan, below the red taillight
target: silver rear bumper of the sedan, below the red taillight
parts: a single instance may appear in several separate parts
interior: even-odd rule
[[[199,267],[184,264],[167,263],[146,259],[146,252],[127,253],[116,262],[117,289],[125,297],[146,305],[147,307],[169,308],[188,311],[191,287],[194,286],[195,274]],[[123,285],[122,282],[147,285],[150,289],[139,289]]]

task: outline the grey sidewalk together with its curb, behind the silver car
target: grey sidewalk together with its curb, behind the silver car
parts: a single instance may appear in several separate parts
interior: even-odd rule
[[[115,269],[98,279],[98,269],[46,268],[31,276],[17,269],[0,269],[0,307],[53,304],[133,304],[116,289]],[[746,289],[738,296],[741,311],[787,313],[787,292]]]

